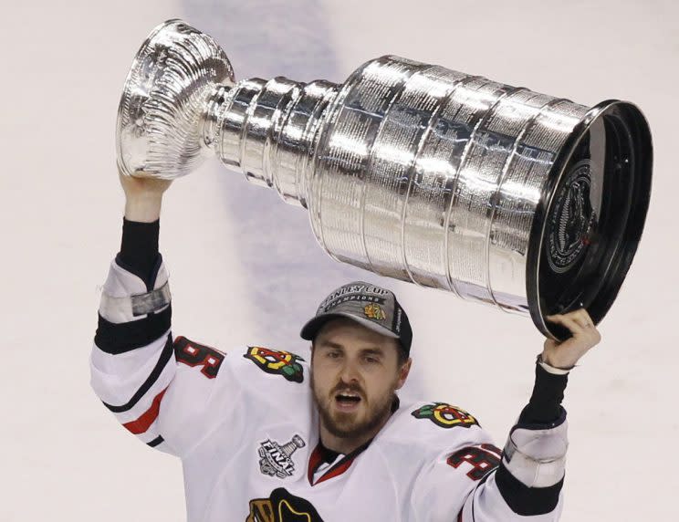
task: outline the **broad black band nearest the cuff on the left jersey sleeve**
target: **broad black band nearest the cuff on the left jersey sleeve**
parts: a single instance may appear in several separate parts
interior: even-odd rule
[[[151,344],[170,329],[172,305],[161,312],[127,323],[112,323],[99,314],[99,325],[94,343],[99,350],[112,355],[135,350]]]

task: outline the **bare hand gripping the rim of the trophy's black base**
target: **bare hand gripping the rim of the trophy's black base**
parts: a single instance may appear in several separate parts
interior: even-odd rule
[[[580,357],[601,340],[601,334],[585,308],[564,315],[548,316],[547,319],[569,329],[571,335],[562,342],[554,339],[545,340],[542,361],[554,368],[572,368]]]

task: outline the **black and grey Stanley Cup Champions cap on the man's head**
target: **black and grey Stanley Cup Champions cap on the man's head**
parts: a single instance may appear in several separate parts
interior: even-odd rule
[[[299,335],[313,340],[333,318],[350,318],[367,329],[398,339],[406,356],[410,354],[413,329],[391,290],[364,281],[343,285],[323,299],[316,316],[308,320]]]

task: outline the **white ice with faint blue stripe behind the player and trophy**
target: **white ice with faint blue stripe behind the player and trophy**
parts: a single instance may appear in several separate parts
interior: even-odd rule
[[[179,461],[115,422],[88,367],[120,245],[120,91],[143,38],[171,17],[215,37],[236,78],[341,82],[396,54],[584,105],[637,103],[653,131],[652,204],[601,345],[569,380],[562,520],[679,520],[679,5],[64,0],[1,12],[0,521],[184,518]],[[473,412],[500,446],[528,400],[542,343],[528,318],[335,263],[306,211],[216,160],[167,194],[161,249],[175,334],[304,353],[298,328],[319,299],[362,278],[395,289],[411,317],[405,395]]]

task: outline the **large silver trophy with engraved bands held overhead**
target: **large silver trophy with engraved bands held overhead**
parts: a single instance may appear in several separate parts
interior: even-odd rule
[[[402,57],[343,84],[235,82],[213,38],[169,20],[120,100],[120,171],[173,179],[214,151],[307,208],[338,261],[506,312],[606,314],[651,192],[642,112],[588,108]]]

